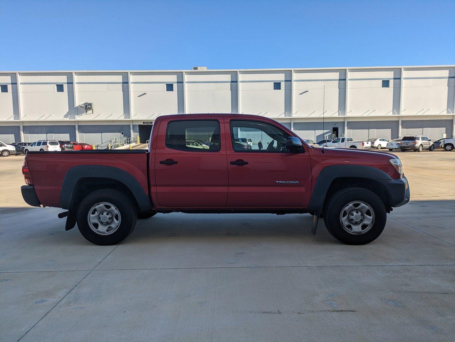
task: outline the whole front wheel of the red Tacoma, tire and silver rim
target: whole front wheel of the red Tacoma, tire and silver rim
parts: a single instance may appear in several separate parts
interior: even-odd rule
[[[386,219],[382,200],[360,187],[339,190],[324,208],[327,230],[348,245],[364,245],[376,240],[384,230]]]

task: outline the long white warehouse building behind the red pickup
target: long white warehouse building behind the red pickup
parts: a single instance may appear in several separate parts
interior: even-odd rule
[[[270,117],[315,141],[331,133],[455,134],[454,65],[193,69],[0,71],[0,140],[101,145],[139,135],[144,142],[159,115],[207,112]]]

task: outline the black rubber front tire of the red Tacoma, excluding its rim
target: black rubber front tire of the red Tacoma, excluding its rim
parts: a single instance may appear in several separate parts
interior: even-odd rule
[[[344,207],[353,201],[362,201],[374,211],[373,226],[363,234],[354,235],[344,230],[340,222],[340,214]],[[385,227],[387,215],[382,200],[370,190],[360,187],[341,189],[329,198],[324,206],[324,223],[329,233],[347,245],[365,245],[381,235]]]

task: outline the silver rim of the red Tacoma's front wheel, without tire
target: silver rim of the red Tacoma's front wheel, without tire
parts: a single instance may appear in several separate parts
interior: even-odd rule
[[[365,202],[350,202],[341,210],[340,223],[349,234],[365,234],[374,225],[374,210]]]

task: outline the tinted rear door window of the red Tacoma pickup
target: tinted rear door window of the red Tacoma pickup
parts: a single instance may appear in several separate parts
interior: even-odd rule
[[[218,120],[175,120],[167,124],[167,148],[190,152],[217,152],[221,149]]]

